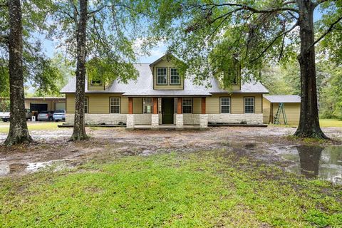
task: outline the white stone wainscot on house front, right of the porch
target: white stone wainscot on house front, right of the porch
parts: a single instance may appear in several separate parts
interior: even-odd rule
[[[262,113],[251,114],[208,114],[208,122],[210,123],[241,123],[247,122],[247,124],[262,124]]]

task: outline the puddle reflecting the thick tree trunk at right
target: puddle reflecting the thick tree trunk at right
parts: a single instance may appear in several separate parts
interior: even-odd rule
[[[299,145],[277,147],[276,152],[294,165],[286,170],[307,178],[321,178],[342,185],[342,146],[328,147]]]

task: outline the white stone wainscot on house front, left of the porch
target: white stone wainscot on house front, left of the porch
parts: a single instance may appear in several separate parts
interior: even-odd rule
[[[66,123],[73,124],[74,114],[66,114]],[[126,123],[126,114],[85,114],[86,124],[113,124]]]

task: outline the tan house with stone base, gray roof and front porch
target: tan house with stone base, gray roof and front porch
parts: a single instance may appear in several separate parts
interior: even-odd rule
[[[268,90],[259,82],[241,83],[237,76],[229,89],[211,78],[210,88],[197,86],[191,77],[181,77],[175,64],[162,56],[151,64],[135,64],[139,76],[124,84],[86,80],[86,124],[125,123],[160,128],[173,125],[186,128],[208,123],[263,124],[263,94]],[[61,90],[66,94],[66,123],[73,123],[76,78]]]

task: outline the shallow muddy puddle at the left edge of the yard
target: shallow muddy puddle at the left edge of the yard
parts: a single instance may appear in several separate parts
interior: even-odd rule
[[[38,172],[48,167],[53,167],[53,171],[62,170],[63,168],[73,167],[73,160],[51,160],[48,162],[28,162],[24,163],[1,163],[0,162],[0,177],[10,174],[27,174]]]

